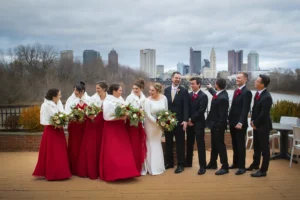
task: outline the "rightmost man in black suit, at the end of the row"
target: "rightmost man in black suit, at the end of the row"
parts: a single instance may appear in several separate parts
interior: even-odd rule
[[[252,108],[251,126],[253,127],[254,155],[253,162],[248,171],[259,169],[260,155],[262,155],[262,165],[260,169],[251,174],[252,177],[267,176],[270,161],[269,136],[272,130],[270,110],[273,104],[272,97],[267,90],[270,78],[266,75],[259,75],[255,81],[257,92],[254,97]]]

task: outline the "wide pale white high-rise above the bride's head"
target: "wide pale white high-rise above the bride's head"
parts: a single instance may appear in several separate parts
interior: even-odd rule
[[[156,78],[156,50],[140,50],[140,70],[145,72],[149,78]]]

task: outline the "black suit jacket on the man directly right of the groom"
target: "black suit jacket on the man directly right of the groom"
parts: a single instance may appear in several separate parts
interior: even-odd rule
[[[201,90],[198,92],[198,97],[194,100],[192,99],[193,94],[193,92],[189,94],[190,119],[194,126],[204,128],[208,98]]]

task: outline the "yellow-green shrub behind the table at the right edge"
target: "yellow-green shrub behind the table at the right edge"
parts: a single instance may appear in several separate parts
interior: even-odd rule
[[[277,101],[271,108],[271,117],[273,122],[280,122],[281,116],[299,117],[300,103],[294,103],[287,100]]]

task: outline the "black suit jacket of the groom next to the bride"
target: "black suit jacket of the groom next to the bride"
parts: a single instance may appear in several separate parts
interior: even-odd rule
[[[176,113],[178,125],[180,125],[183,121],[188,122],[188,119],[189,119],[189,103],[188,103],[189,93],[188,93],[187,89],[185,89],[182,86],[179,86],[173,102],[172,102],[171,89],[172,89],[172,86],[167,87],[165,89],[165,96],[168,99],[168,109],[171,110],[172,112]]]

